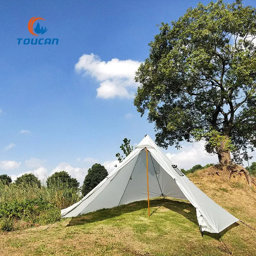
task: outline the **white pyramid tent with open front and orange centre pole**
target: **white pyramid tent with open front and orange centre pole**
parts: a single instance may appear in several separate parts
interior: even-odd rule
[[[148,135],[83,199],[61,210],[61,217],[75,217],[147,198],[149,204],[149,198],[158,196],[188,200],[196,208],[201,232],[220,233],[238,221],[197,188]]]

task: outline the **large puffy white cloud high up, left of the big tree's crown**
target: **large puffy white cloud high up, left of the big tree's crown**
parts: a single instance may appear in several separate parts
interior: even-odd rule
[[[132,98],[138,85],[134,75],[140,66],[139,61],[112,59],[102,61],[99,56],[82,55],[75,65],[77,72],[84,71],[100,82],[97,97],[110,99],[115,97]]]

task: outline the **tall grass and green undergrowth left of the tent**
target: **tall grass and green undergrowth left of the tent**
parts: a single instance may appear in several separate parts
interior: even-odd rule
[[[12,183],[0,182],[0,230],[11,231],[36,224],[52,223],[60,218],[60,210],[81,198],[77,188],[68,184],[54,182],[38,185],[33,182]],[[14,224],[13,224],[14,223]]]

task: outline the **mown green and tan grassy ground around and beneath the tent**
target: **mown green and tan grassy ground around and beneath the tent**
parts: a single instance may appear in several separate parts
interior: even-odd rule
[[[216,203],[256,226],[256,189],[243,179],[200,170],[189,178]],[[195,208],[183,200],[156,198],[62,219],[47,230],[39,226],[0,234],[0,255],[256,255],[256,231],[234,224],[220,235],[202,237]],[[227,248],[227,247],[228,248]]]

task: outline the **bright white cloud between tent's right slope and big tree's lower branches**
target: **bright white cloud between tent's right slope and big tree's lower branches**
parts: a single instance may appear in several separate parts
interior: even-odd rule
[[[185,170],[190,169],[195,164],[218,163],[217,155],[209,155],[204,149],[204,141],[199,141],[193,145],[182,147],[178,153],[167,153],[166,156],[171,159],[173,164],[177,164],[179,168]]]

